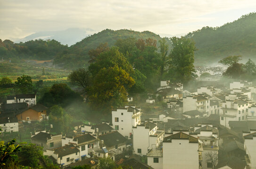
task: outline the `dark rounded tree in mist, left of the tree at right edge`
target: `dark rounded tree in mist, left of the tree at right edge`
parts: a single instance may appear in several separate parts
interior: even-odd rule
[[[239,78],[242,74],[244,74],[242,63],[233,63],[232,66],[228,67],[223,73],[223,75],[231,78]]]

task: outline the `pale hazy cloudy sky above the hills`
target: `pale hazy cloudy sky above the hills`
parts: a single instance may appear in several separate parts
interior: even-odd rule
[[[256,0],[0,0],[0,38],[67,28],[180,34],[254,11]]]

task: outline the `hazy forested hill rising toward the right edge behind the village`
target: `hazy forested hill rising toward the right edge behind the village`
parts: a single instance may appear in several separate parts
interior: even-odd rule
[[[256,13],[221,27],[204,27],[186,35],[196,42],[196,62],[216,61],[229,55],[256,56]]]

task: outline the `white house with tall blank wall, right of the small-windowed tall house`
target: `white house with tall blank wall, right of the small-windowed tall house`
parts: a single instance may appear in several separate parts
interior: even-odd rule
[[[158,146],[164,138],[164,131],[157,130],[157,124],[145,122],[132,128],[133,153],[146,155],[152,145]]]

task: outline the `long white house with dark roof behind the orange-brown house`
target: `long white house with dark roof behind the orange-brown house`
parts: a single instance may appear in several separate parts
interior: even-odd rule
[[[7,96],[6,103],[27,103],[29,106],[36,105],[35,94],[17,94],[15,96]]]

